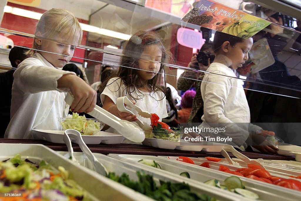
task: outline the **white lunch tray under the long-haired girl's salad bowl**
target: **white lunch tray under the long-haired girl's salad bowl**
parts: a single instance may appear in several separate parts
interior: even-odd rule
[[[178,149],[182,151],[212,151],[220,152],[225,144],[215,143],[215,142],[203,142],[203,143],[189,143],[181,139],[179,142],[145,138],[142,142],[143,145],[162,148],[162,149]]]

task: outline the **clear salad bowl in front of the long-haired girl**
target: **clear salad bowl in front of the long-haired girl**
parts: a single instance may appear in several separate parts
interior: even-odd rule
[[[161,140],[169,140],[178,142],[182,139],[184,130],[181,131],[156,131],[156,130],[143,130],[145,133],[145,138],[154,138]]]

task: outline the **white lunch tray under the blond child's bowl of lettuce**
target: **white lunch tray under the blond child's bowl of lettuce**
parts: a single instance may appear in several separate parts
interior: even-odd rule
[[[53,143],[65,144],[63,140],[64,131],[63,130],[41,130],[33,129],[31,131],[33,139],[46,140]],[[99,131],[93,136],[82,136],[82,139],[87,145],[98,145],[103,144],[120,144],[124,140],[122,135],[117,135],[115,133]],[[73,143],[77,143],[77,140],[72,140]]]

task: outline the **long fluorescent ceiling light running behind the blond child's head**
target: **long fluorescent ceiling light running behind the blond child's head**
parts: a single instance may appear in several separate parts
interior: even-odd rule
[[[4,12],[5,13],[11,13],[11,14],[18,15],[18,16],[22,16],[22,17],[28,17],[28,18],[32,18],[32,19],[36,19],[36,20],[39,20],[42,16],[41,13],[28,11],[28,10],[21,9],[21,8],[14,8],[14,7],[11,7],[11,6],[5,6],[4,7]],[[111,30],[108,30],[108,29],[101,29],[101,28],[98,28],[96,26],[91,26],[91,25],[88,25],[88,24],[83,24],[83,23],[79,23],[79,24],[82,27],[82,30],[87,31],[87,32],[98,33],[98,34],[101,34],[101,35],[106,35],[106,36],[110,36],[110,37],[113,37],[113,38],[119,38],[119,39],[123,39],[123,40],[129,40],[129,38],[131,38],[131,35],[111,31]]]

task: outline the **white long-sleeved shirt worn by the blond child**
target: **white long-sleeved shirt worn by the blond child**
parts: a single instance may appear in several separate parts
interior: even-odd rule
[[[55,68],[41,54],[25,59],[14,73],[11,121],[5,138],[30,139],[32,129],[62,130],[57,117],[66,117],[68,89],[58,89],[57,80],[74,72]]]

